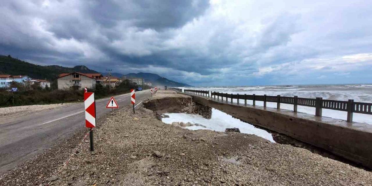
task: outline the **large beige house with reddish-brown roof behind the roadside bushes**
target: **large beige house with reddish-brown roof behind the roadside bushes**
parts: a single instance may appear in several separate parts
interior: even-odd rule
[[[58,89],[94,89],[96,83],[102,82],[102,74],[64,73],[57,78]]]

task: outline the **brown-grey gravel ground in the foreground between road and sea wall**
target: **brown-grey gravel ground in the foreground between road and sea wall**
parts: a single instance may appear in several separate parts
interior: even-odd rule
[[[190,131],[126,106],[16,167],[0,185],[372,185],[372,173],[256,135]],[[56,175],[56,176],[55,176]]]

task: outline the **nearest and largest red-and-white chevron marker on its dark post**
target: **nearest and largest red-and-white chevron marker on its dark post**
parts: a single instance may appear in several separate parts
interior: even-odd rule
[[[90,151],[93,147],[93,128],[96,127],[96,101],[93,92],[84,92],[85,126],[89,128]]]

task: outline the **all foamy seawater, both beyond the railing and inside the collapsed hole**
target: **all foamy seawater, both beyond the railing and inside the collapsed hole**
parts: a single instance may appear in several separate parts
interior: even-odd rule
[[[178,87],[180,89],[209,90],[212,92],[222,92],[228,94],[256,94],[268,96],[298,96],[305,98],[323,97],[323,99],[347,101],[353,99],[355,102],[372,103],[372,84],[313,84],[313,85],[271,85],[271,86],[218,86],[218,87]],[[229,99],[230,100],[230,99]],[[233,100],[237,102],[236,99]],[[240,100],[244,103],[244,100]],[[247,104],[252,104],[251,100]],[[263,102],[256,101],[256,105],[263,106]],[[267,102],[267,107],[276,108],[276,103]],[[280,104],[281,109],[293,110],[293,105]],[[298,106],[298,112],[304,112],[315,115],[315,108]],[[187,129],[209,129],[215,131],[225,131],[225,128],[236,127],[246,134],[255,134],[267,140],[274,142],[271,134],[255,128],[253,125],[232,118],[232,116],[212,109],[212,118],[205,119],[199,115],[186,113],[167,113],[169,118],[163,118],[163,122],[171,124],[172,122],[191,122],[202,124],[202,126],[188,126]],[[323,109],[322,115],[325,117],[344,119],[347,113],[339,110]],[[372,115],[353,113],[353,122],[359,122],[372,125]]]

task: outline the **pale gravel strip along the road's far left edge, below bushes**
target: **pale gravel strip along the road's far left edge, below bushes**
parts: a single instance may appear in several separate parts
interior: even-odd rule
[[[68,106],[78,103],[57,103],[49,105],[25,105],[25,106],[10,106],[0,108],[0,116],[6,116],[7,118],[20,117],[30,115],[32,113],[39,113],[47,110],[58,109],[63,106]]]

